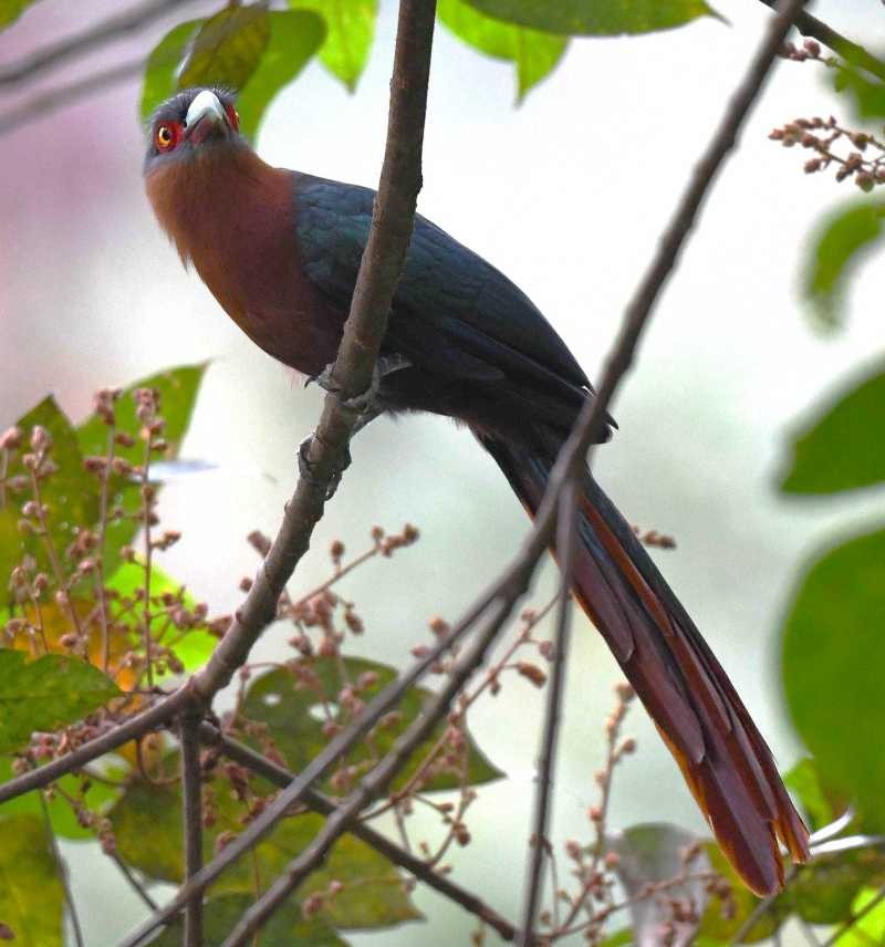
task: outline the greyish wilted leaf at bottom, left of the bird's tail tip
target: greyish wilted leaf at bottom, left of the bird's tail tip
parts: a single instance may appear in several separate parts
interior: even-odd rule
[[[633,825],[606,839],[606,847],[618,855],[615,872],[631,899],[629,914],[636,947],[656,947],[662,940],[662,926],[673,920],[673,912],[666,903],[654,897],[643,897],[642,893],[649,884],[669,882],[685,872],[685,852],[697,842],[690,832],[664,822]],[[693,874],[710,871],[709,860],[702,849],[693,860],[690,871]],[[702,881],[670,886],[667,896],[690,902],[698,916],[707,904]],[[696,927],[696,924],[675,923],[671,947],[693,944]]]

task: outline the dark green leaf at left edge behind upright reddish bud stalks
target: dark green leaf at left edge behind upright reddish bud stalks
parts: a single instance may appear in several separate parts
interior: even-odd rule
[[[50,458],[58,470],[41,480],[40,493],[49,508],[49,534],[56,555],[63,561],[64,551],[74,539],[74,528],[92,525],[98,518],[97,480],[83,468],[76,434],[54,398],[44,398],[33,410],[19,418],[15,425],[21,429],[25,445],[31,429],[37,425],[44,427],[52,437]],[[9,477],[28,477],[21,462],[27,452],[28,447],[24,446],[12,455]],[[0,601],[7,599],[10,573],[25,553],[33,555],[39,568],[51,574],[43,539],[33,533],[19,532],[21,508],[30,499],[33,499],[30,488],[24,493],[8,491],[6,506],[0,507]]]

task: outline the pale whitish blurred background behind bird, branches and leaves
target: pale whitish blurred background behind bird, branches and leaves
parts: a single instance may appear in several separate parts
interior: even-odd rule
[[[90,21],[98,7],[112,4],[38,4],[0,37],[0,61]],[[259,139],[267,160],[377,181],[395,4],[382,7],[357,94],[311,65],[268,113]],[[419,209],[513,278],[591,377],[768,15],[750,0],[717,8],[728,25],[705,20],[645,38],[573,42],[520,108],[510,67],[437,31]],[[827,0],[813,10],[867,46],[885,46],[875,0]],[[171,22],[114,55],[146,50]],[[628,519],[677,538],[678,550],[656,558],[782,769],[801,753],[777,673],[777,629],[796,571],[834,532],[862,527],[876,510],[876,498],[796,502],[773,488],[787,433],[823,392],[882,353],[881,269],[862,271],[848,329],[833,339],[811,331],[796,298],[810,228],[852,186],[803,176],[803,155],[767,135],[799,116],[843,116],[825,79],[811,63],[779,65],[662,300],[614,408],[621,430],[596,468]],[[239,577],[256,565],[246,534],[275,529],[295,446],[321,402],[239,333],[155,226],[142,192],[137,94],[128,83],[2,142],[0,428],[48,392],[80,418],[98,387],[211,358],[183,452],[218,469],[167,487],[160,512],[184,539],[162,564],[221,612],[236,607]],[[353,454],[291,587],[324,577],[331,538],[355,551],[376,522],[417,524],[417,547],[343,586],[367,620],[357,649],[402,665],[429,617],[456,616],[498,572],[527,522],[494,466],[445,420],[378,422]],[[548,569],[530,601],[543,603],[552,587]],[[257,654],[281,654],[287,636],[271,631]],[[618,677],[579,616],[556,778],[560,846],[590,840],[584,813],[596,799],[592,777]],[[469,818],[473,842],[452,858],[456,877],[512,919],[521,907],[541,697],[513,679],[477,708],[473,733],[510,779],[481,791]],[[671,820],[702,831],[644,712],[633,712],[627,730],[641,749],[617,776],[612,826]],[[138,902],[84,846],[65,845],[65,853],[87,943],[113,944],[138,919]],[[421,888],[415,902],[428,926],[348,939],[361,947],[468,944],[473,922],[460,908]]]

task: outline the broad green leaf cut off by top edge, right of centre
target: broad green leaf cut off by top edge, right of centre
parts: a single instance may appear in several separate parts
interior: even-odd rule
[[[648,33],[716,15],[705,0],[468,0],[489,17],[576,37]]]

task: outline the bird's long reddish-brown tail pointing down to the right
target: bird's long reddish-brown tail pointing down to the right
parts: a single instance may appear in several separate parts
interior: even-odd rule
[[[553,465],[479,435],[531,516]],[[778,841],[809,856],[808,830],[771,751],[694,622],[614,503],[586,474],[573,592],[655,721],[728,860],[757,894],[783,884]]]

